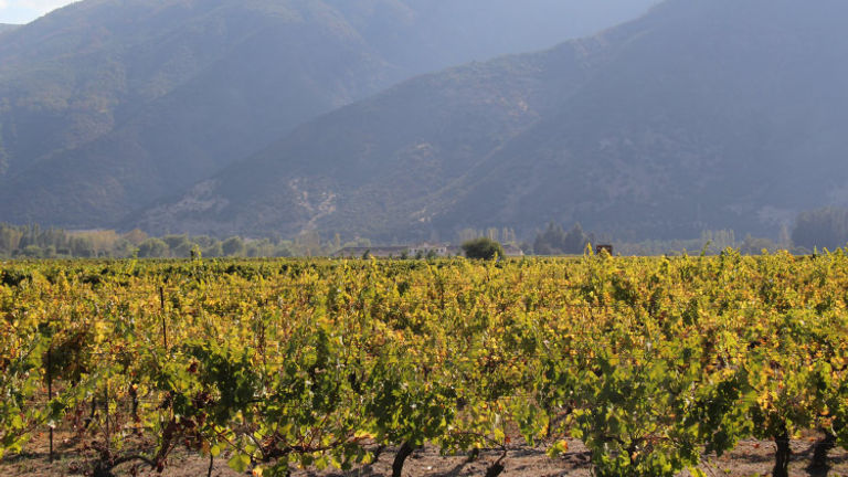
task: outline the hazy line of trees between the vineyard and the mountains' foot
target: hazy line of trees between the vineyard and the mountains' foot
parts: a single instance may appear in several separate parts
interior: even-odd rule
[[[465,229],[458,233],[459,243],[486,237],[495,242],[518,245],[512,229]],[[801,212],[789,232],[785,229],[776,242],[751,235],[739,240],[733,231],[704,231],[691,240],[656,241],[638,243],[610,241],[583,230],[580,223],[565,229],[555,222],[537,231],[532,241],[520,243],[526,254],[579,255],[590,244],[598,241],[614,242],[615,251],[624,255],[661,255],[674,252],[704,251],[716,254],[728,247],[743,254],[762,251],[788,250],[795,254],[809,254],[815,250],[836,250],[848,244],[848,209],[824,208]],[[113,230],[66,231],[39,225],[11,225],[0,223],[0,258],[189,258],[204,257],[288,257],[321,256],[347,246],[371,246],[368,239],[342,242],[336,234],[324,241],[317,232],[303,233],[294,239],[248,239],[231,236],[218,239],[208,235],[167,234],[150,236],[140,230],[126,233]]]

